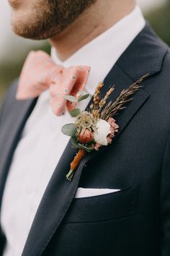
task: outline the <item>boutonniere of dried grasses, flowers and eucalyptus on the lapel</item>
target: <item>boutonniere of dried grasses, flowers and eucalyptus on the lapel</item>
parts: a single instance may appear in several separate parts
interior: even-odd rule
[[[109,96],[114,92],[115,86],[109,88],[106,95],[101,97],[100,92],[104,83],[100,82],[95,90],[89,110],[81,111],[79,108],[74,108],[70,112],[75,120],[72,124],[65,124],[61,130],[64,135],[71,137],[72,146],[79,150],[71,162],[70,171],[66,175],[68,181],[71,182],[76,168],[87,153],[91,153],[93,150],[100,150],[100,148],[112,143],[115,134],[119,131],[115,115],[123,108],[126,108],[126,103],[133,100],[131,96],[139,90],[141,82],[146,77],[148,77],[148,74],[141,77],[133,85],[130,85],[128,89],[122,90],[114,102],[109,101]],[[74,98],[71,95],[67,95],[65,98],[68,101],[79,103],[88,97],[89,95],[86,94],[79,98]]]

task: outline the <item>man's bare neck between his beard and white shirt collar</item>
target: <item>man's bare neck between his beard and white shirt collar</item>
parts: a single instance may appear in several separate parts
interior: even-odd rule
[[[107,3],[98,0],[63,33],[50,38],[50,43],[57,50],[59,58],[65,61],[79,48],[122,20],[134,8],[135,1],[133,0],[107,0]]]

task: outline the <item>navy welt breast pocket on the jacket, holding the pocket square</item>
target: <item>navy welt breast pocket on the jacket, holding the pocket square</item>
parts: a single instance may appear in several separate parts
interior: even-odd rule
[[[139,186],[135,185],[106,195],[74,198],[66,214],[66,223],[111,221],[132,216],[138,209]]]

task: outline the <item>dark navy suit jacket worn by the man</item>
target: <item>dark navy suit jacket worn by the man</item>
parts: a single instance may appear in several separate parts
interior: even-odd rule
[[[146,25],[105,77],[102,93],[115,84],[114,101],[144,74],[148,79],[115,116],[120,130],[112,145],[87,154],[72,182],[65,176],[76,149],[68,142],[22,256],[170,255],[169,71],[168,46]],[[1,109],[0,202],[12,155],[37,101],[16,101],[16,90],[14,82]],[[78,187],[120,191],[74,198]]]

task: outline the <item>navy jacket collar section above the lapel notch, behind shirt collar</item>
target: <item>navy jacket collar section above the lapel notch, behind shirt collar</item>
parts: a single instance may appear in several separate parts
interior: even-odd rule
[[[144,29],[117,61],[117,66],[136,81],[143,74],[152,75],[160,72],[167,51],[166,43],[161,41],[146,23]]]

